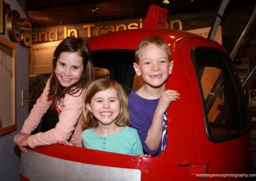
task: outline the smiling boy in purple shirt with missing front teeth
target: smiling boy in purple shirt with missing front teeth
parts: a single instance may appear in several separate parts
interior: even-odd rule
[[[129,95],[131,127],[137,129],[144,151],[157,156],[167,143],[166,110],[180,95],[165,89],[173,68],[170,48],[162,38],[149,36],[136,49],[133,66],[144,85]]]

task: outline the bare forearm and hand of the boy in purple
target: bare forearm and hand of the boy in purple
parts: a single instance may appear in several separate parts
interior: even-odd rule
[[[177,91],[173,90],[166,90],[161,94],[157,108],[154,113],[152,124],[148,129],[148,135],[145,140],[145,143],[150,150],[156,150],[157,148],[159,148],[163,131],[164,112],[166,112],[168,106],[172,101],[176,101],[177,99],[179,99],[179,95],[180,94]]]

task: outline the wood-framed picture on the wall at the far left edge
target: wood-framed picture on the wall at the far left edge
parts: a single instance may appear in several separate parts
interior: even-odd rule
[[[16,45],[0,37],[0,136],[16,130]]]

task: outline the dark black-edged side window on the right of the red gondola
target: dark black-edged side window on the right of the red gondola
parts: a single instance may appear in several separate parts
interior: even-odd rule
[[[220,50],[193,50],[208,136],[213,141],[241,135],[250,122],[241,83],[232,61]]]

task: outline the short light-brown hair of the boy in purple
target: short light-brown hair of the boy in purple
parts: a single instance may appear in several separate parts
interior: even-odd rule
[[[159,36],[148,36],[146,38],[143,38],[141,40],[140,44],[138,45],[136,51],[135,51],[135,62],[139,64],[140,62],[140,54],[143,48],[147,47],[150,44],[154,44],[159,48],[163,48],[163,50],[166,51],[168,54],[168,59],[171,61],[171,50],[170,47],[167,45],[167,43],[163,40],[163,38]]]

